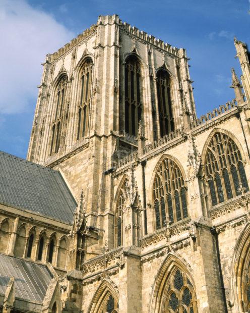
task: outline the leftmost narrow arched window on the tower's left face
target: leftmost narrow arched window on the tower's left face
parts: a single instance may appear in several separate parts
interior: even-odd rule
[[[51,128],[51,144],[50,155],[57,153],[60,146],[61,128],[65,110],[65,95],[67,88],[68,77],[64,75],[60,78],[54,92],[54,112],[52,113],[52,128]]]

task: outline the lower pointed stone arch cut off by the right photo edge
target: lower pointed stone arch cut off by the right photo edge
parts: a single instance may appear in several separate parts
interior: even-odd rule
[[[231,292],[236,310],[250,310],[250,224],[241,232],[231,263]]]

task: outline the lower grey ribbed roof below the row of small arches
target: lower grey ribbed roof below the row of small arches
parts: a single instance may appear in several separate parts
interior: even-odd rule
[[[11,277],[15,278],[15,297],[42,302],[52,275],[45,265],[0,254],[0,294],[5,294]]]

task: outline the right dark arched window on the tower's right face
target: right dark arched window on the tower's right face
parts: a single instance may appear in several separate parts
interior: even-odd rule
[[[171,105],[171,86],[166,70],[159,70],[156,75],[158,112],[161,137],[174,130]]]

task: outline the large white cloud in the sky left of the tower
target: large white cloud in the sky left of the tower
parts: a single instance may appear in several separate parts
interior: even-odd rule
[[[0,1],[0,113],[26,112],[37,96],[42,66],[74,34],[25,0]]]

